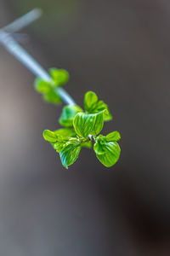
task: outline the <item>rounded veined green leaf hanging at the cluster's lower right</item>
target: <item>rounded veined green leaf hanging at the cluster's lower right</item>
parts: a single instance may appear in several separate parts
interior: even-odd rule
[[[94,144],[94,151],[99,161],[106,167],[116,164],[121,154],[121,148],[116,142],[107,142],[106,138],[100,135]]]

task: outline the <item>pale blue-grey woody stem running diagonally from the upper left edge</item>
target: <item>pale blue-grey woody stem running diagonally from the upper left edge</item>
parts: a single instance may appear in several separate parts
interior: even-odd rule
[[[23,22],[24,17],[26,17],[26,15],[14,21],[19,28],[20,27],[23,28],[24,24],[26,26],[26,24],[31,23],[31,21],[28,22],[29,19],[27,20],[27,22]],[[22,26],[21,25],[19,26],[20,20],[22,21],[21,22]],[[35,17],[34,17],[34,20],[35,20]],[[14,29],[14,22],[12,23],[13,26],[11,27],[13,27],[13,31],[16,32],[17,29]],[[10,25],[6,26],[6,29],[9,27]],[[31,71],[31,73],[34,73],[38,78],[44,79],[49,82],[53,82],[48,72],[29,53],[27,53],[26,49],[23,49],[20,46],[20,44],[18,44],[14,40],[14,38],[10,36],[8,32],[4,32],[3,30],[0,30],[0,44],[2,44],[3,47],[7,49],[11,55],[14,55],[14,57],[18,61],[20,61],[24,66],[26,66]],[[74,100],[71,98],[71,96],[64,89],[56,88],[56,92],[59,94],[63,102],[65,102],[65,104],[67,105],[76,104]]]

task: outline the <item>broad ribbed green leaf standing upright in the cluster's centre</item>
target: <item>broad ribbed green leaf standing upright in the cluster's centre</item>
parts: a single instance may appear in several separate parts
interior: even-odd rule
[[[77,113],[73,125],[79,137],[88,137],[89,134],[97,135],[104,125],[104,112]]]

